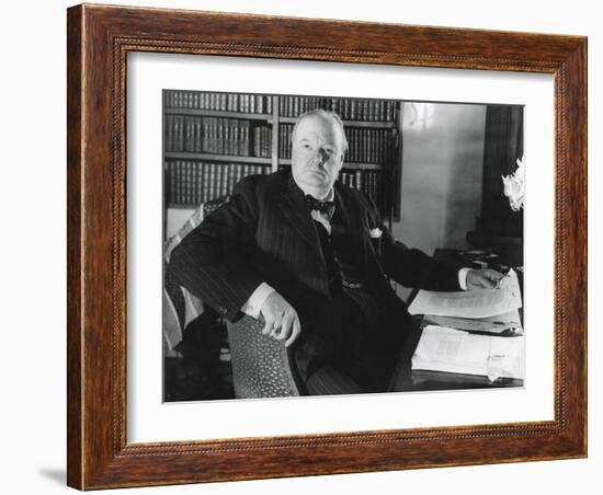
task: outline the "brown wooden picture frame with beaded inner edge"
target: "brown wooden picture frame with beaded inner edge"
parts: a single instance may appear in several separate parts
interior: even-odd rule
[[[68,10],[67,34],[70,486],[92,490],[587,456],[584,37],[86,4]],[[554,74],[554,421],[128,444],[129,51]]]

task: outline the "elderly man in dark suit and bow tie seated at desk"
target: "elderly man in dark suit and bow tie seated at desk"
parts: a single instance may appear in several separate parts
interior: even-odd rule
[[[373,203],[337,181],[348,141],[337,114],[304,114],[292,170],[249,176],[173,251],[177,280],[229,320],[263,319],[308,394],[386,391],[411,319],[407,287],[494,287],[494,270],[436,263],[391,238]]]

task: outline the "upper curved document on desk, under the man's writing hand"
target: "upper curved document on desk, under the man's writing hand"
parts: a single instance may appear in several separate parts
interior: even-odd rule
[[[510,270],[497,289],[459,292],[420,290],[408,311],[410,314],[477,319],[509,313],[521,307],[517,274]]]

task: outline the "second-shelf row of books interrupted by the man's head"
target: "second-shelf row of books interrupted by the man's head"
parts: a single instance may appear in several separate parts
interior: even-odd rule
[[[293,125],[278,127],[278,158],[291,158]],[[345,161],[354,163],[385,163],[390,160],[394,134],[390,129],[346,127],[348,153]]]

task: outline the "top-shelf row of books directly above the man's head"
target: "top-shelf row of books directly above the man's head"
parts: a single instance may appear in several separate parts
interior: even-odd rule
[[[392,100],[280,96],[278,113],[283,117],[297,117],[314,108],[334,112],[343,120],[394,122],[396,119],[396,102]]]

